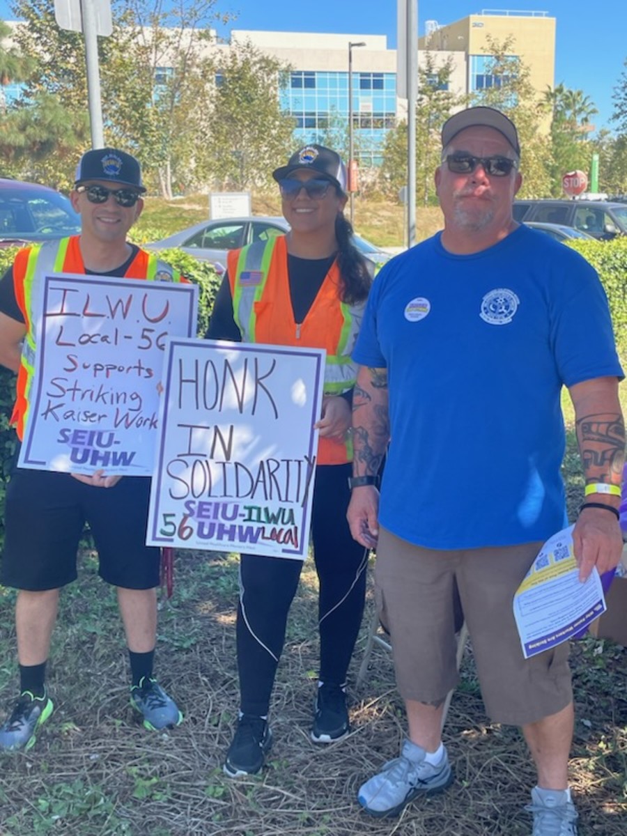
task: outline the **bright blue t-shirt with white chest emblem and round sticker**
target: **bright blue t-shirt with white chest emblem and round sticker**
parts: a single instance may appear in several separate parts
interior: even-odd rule
[[[388,371],[381,525],[442,549],[563,528],[562,385],[622,377],[604,289],[577,252],[518,227],[459,256],[438,233],[380,271],[353,358]]]

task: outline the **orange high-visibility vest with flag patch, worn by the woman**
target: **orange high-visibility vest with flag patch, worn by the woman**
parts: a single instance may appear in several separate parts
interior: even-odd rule
[[[331,265],[300,324],[294,321],[289,293],[285,236],[232,250],[228,253],[227,265],[233,318],[244,342],[325,349],[324,395],[341,395],[354,386],[357,364],[350,355],[365,303],[341,301],[337,261]],[[319,439],[319,464],[344,464],[352,458],[350,439]]]

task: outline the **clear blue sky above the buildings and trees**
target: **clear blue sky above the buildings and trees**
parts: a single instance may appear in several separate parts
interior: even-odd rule
[[[233,16],[217,27],[223,38],[231,28],[384,34],[388,46],[396,46],[395,0],[217,0],[216,8]],[[419,33],[426,20],[453,23],[482,8],[543,11],[557,18],[555,84],[583,90],[599,110],[593,118],[597,128],[612,127],[612,93],[627,59],[625,0],[492,0],[486,7],[478,0],[418,0]],[[12,19],[9,9],[10,3],[0,0],[0,19]]]

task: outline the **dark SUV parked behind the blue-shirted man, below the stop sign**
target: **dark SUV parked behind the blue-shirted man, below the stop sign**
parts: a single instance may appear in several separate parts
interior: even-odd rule
[[[561,223],[608,241],[627,235],[627,204],[610,201],[514,201],[514,220]]]

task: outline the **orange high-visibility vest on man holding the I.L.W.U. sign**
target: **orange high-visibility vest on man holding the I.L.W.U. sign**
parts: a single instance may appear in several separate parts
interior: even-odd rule
[[[47,241],[35,247],[20,250],[13,261],[13,288],[18,307],[26,324],[22,357],[18,370],[17,397],[13,406],[11,423],[15,425],[20,441],[28,418],[28,395],[33,384],[35,353],[38,342],[38,311],[41,283],[50,273],[86,273],[80,254],[79,236]],[[181,282],[181,274],[161,262],[155,255],[139,250],[124,274],[124,278]]]

